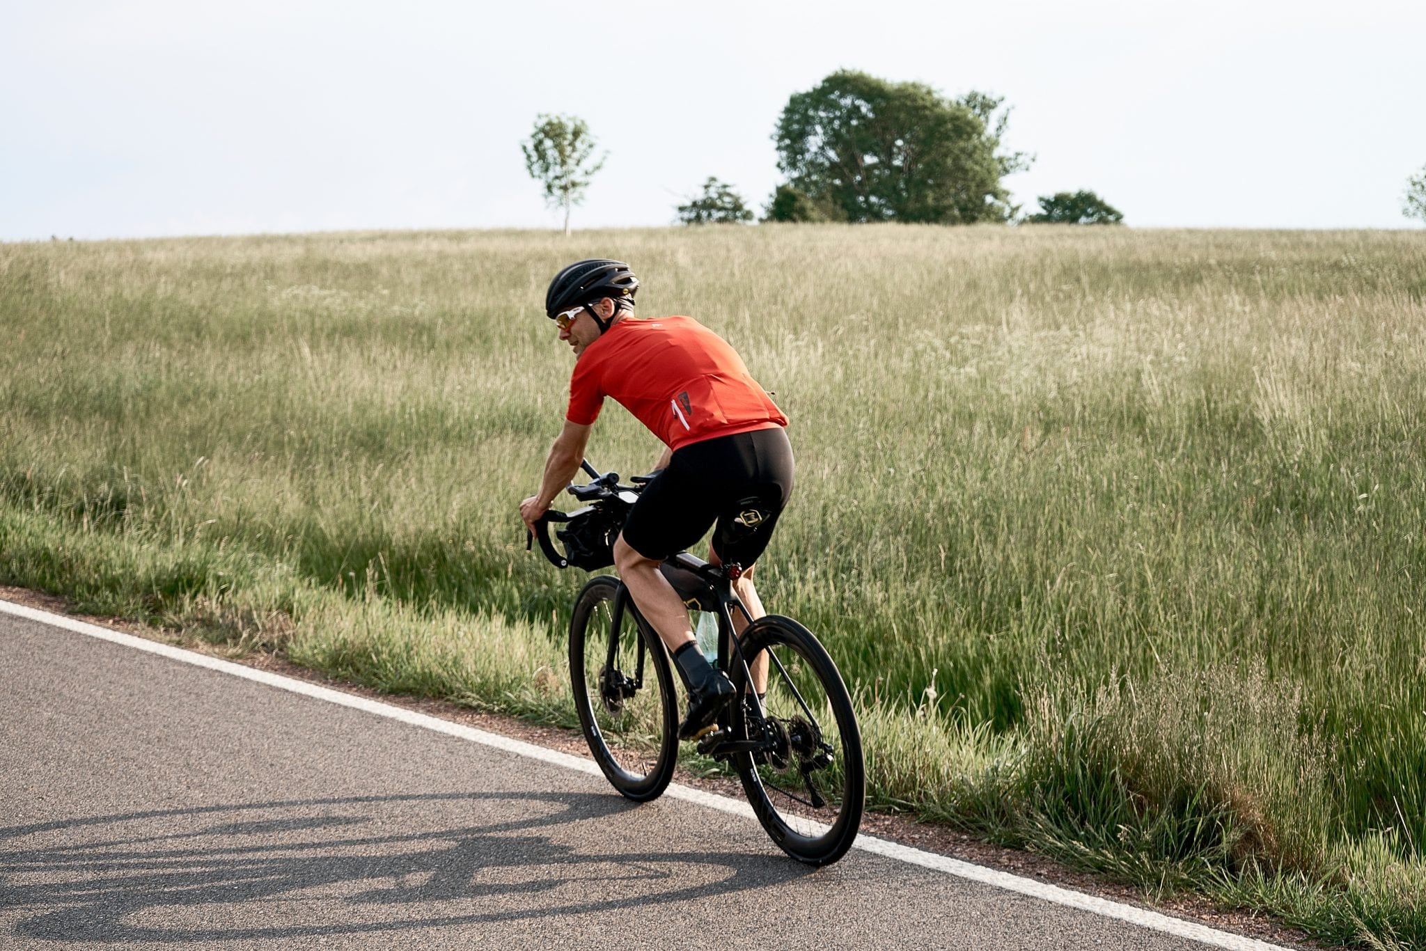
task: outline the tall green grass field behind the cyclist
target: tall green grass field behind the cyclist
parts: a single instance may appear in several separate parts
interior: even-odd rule
[[[793,421],[760,569],[871,796],[1426,947],[1426,240],[771,227],[0,245],[0,582],[573,721],[518,502],[580,257]],[[617,406],[590,459],[647,471]]]

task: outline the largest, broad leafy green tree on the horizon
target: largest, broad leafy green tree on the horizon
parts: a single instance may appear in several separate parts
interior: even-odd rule
[[[1015,208],[1001,178],[1030,160],[998,151],[1008,118],[1008,110],[997,115],[1001,101],[833,73],[787,100],[773,134],[777,167],[836,220],[1008,221]]]

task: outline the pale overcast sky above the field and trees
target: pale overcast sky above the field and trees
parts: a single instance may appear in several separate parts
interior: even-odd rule
[[[0,240],[552,228],[519,150],[536,113],[609,153],[576,228],[669,224],[707,175],[761,207],[787,97],[843,67],[1004,96],[1027,207],[1092,188],[1141,227],[1402,228],[1423,36],[1422,0],[16,1]]]

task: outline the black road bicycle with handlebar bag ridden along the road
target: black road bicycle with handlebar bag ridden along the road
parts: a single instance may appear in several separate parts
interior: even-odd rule
[[[652,476],[600,473],[589,462],[588,485],[569,493],[585,503],[549,510],[526,548],[539,540],[556,567],[596,572],[613,565],[613,542]],[[550,525],[563,545],[549,538]],[[866,764],[851,697],[817,637],[791,617],[767,615],[734,634],[733,592],[739,565],[710,565],[679,552],[660,566],[696,615],[700,647],[737,693],[697,751],[730,764],[771,840],[793,858],[826,865],[851,847],[861,824]],[[744,612],[744,617],[746,617]],[[750,666],[767,656],[767,693],[759,697]],[[635,801],[657,798],[673,778],[679,753],[679,707],[669,652],[643,619],[629,589],[596,575],[575,599],[569,623],[569,673],[579,724],[599,768]]]

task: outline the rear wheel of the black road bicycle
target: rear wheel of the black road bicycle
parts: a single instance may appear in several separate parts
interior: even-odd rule
[[[742,644],[749,664],[763,652],[779,659],[769,664],[766,711],[769,723],[779,723],[787,744],[781,764],[769,754],[760,761],[750,753],[734,757],[743,791],[769,837],[784,853],[809,865],[829,865],[851,848],[866,807],[866,763],[851,696],[817,637],[790,617],[760,617],[747,626]],[[759,733],[746,707],[750,684],[742,664],[736,664],[736,673],[739,696],[730,707],[732,730],[734,736],[750,737]],[[813,696],[814,690],[820,696]],[[809,713],[809,707],[820,710]],[[829,723],[834,724],[830,739]],[[830,763],[811,766],[809,771],[804,767],[823,744],[830,750]],[[806,777],[801,780],[806,786],[821,787],[817,791],[826,798],[824,807],[807,801],[816,800],[816,794],[807,793],[806,786],[791,791],[797,786],[794,767]],[[799,793],[807,800],[800,800]]]

